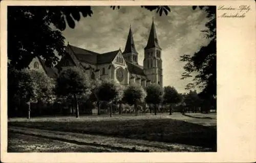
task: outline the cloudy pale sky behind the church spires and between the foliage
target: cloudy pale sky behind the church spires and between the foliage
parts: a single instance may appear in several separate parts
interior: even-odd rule
[[[162,48],[163,86],[174,86],[184,93],[191,79],[181,80],[185,62],[180,61],[184,54],[193,55],[209,40],[202,30],[208,21],[206,14],[191,6],[169,6],[171,12],[159,16],[139,6],[121,6],[119,10],[110,7],[92,7],[92,17],[81,18],[75,29],[63,31],[66,43],[97,53],[118,50],[124,51],[130,25],[135,47],[139,53],[138,62],[143,64],[144,48],[154,17],[158,42]]]

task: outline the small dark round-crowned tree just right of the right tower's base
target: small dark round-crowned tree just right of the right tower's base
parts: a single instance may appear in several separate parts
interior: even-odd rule
[[[163,95],[164,102],[169,105],[170,115],[172,115],[172,107],[174,104],[177,104],[181,101],[181,96],[175,87],[166,86],[164,87],[164,95]]]

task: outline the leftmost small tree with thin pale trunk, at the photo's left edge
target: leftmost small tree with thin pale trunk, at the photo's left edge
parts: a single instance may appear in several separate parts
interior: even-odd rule
[[[13,108],[22,110],[24,103],[28,104],[28,119],[30,119],[30,101],[36,100],[37,85],[27,70],[18,71],[8,67],[8,114]]]

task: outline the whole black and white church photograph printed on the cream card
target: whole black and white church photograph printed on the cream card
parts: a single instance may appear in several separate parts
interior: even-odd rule
[[[8,6],[8,152],[217,152],[216,6]]]

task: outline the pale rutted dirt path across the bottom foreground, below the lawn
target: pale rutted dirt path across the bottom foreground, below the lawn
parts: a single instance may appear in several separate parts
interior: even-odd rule
[[[202,152],[211,150],[181,144],[13,126],[8,128],[8,134],[8,149],[14,152],[18,149],[20,150],[16,152]]]

